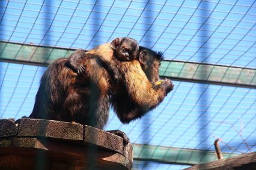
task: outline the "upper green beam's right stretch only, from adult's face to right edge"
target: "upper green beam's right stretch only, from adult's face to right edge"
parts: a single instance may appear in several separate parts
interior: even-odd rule
[[[256,88],[256,69],[250,68],[165,60],[159,74],[184,81]]]

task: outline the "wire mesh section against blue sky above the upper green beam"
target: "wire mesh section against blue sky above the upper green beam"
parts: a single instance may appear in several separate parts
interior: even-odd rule
[[[255,68],[254,1],[49,2],[4,1],[0,7],[5,11],[2,40],[92,48],[129,35],[141,45],[164,51],[166,59],[208,59],[214,64]],[[148,9],[150,6],[154,9]],[[204,60],[200,59],[201,53]]]

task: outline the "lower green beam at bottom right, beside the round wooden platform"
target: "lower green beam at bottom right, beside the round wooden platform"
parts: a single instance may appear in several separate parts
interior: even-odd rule
[[[133,144],[134,159],[163,163],[175,163],[184,165],[197,165],[199,163],[218,160],[214,151],[192,150],[187,148],[173,148],[156,145]],[[239,154],[222,153],[224,158]]]

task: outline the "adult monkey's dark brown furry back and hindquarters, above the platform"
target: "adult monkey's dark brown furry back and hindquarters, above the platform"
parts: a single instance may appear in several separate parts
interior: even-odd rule
[[[82,63],[86,66],[82,76],[67,68],[66,61],[67,58],[56,59],[44,72],[29,117],[64,122],[75,121],[97,128],[104,126],[95,125],[97,121],[91,120],[90,115],[98,109],[99,98],[105,102],[103,116],[109,112],[108,73],[99,59],[92,54],[87,54],[82,59]]]

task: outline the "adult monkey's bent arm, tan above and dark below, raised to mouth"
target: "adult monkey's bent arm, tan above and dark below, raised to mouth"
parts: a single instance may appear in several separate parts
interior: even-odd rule
[[[112,97],[112,105],[122,123],[142,117],[159,105],[173,88],[168,79],[153,86],[136,60],[127,62],[126,67],[123,72],[125,88],[117,90]]]

